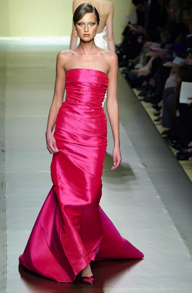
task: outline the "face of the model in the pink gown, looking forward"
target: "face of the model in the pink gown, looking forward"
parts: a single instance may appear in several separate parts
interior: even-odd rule
[[[97,25],[97,18],[94,13],[85,14],[75,25],[75,30],[79,38],[83,41],[92,40],[98,28],[99,25]]]

